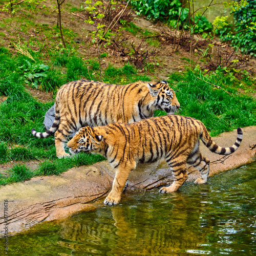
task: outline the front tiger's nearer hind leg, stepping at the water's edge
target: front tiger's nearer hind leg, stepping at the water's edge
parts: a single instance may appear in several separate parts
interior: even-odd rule
[[[166,160],[166,162],[170,166],[170,169],[174,174],[175,181],[173,182],[172,185],[168,187],[162,187],[159,190],[160,193],[172,193],[177,191],[187,179],[185,160],[178,162],[170,158],[170,160],[169,161]]]

